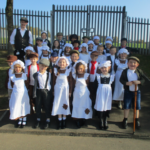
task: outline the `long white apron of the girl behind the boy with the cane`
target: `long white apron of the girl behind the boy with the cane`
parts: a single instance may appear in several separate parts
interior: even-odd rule
[[[117,65],[117,71],[115,74],[115,88],[114,88],[114,93],[113,93],[113,100],[123,101],[124,88],[123,88],[123,84],[120,82],[120,77],[121,77],[122,71],[128,68],[127,60],[125,64],[122,64],[120,63],[118,59],[116,59],[115,63]]]

